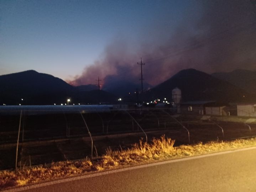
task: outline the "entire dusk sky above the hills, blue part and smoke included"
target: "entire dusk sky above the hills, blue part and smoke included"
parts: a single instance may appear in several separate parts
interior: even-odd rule
[[[223,1],[0,1],[0,75],[36,70],[73,85],[179,70],[256,70],[256,7]]]

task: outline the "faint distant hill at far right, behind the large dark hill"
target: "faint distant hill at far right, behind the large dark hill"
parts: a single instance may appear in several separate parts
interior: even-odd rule
[[[228,73],[214,73],[214,77],[256,94],[256,71],[236,69]]]

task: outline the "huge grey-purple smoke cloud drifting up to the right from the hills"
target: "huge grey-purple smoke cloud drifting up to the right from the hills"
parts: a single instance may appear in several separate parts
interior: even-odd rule
[[[256,14],[251,1],[197,1],[198,10],[184,13],[184,19],[169,37],[152,34],[155,43],[141,43],[131,50],[129,40],[117,38],[106,48],[103,57],[85,67],[81,75],[68,82],[92,83],[95,76],[138,82],[143,59],[144,79],[151,85],[167,80],[179,70],[195,68],[214,73],[237,68],[256,69]],[[199,12],[196,14],[195,13]],[[154,24],[152,24],[154,25]],[[153,27],[153,26],[152,26]],[[163,25],[159,31],[168,31]],[[159,41],[158,41],[159,39]],[[105,80],[105,81],[104,81]]]

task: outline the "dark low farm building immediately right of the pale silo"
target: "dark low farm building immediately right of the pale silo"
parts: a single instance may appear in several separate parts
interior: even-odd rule
[[[189,101],[181,103],[182,114],[205,114],[205,106],[215,101]]]

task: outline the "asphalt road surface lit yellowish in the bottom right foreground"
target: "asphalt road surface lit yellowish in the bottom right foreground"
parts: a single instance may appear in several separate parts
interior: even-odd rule
[[[126,170],[25,191],[256,191],[256,149]]]

